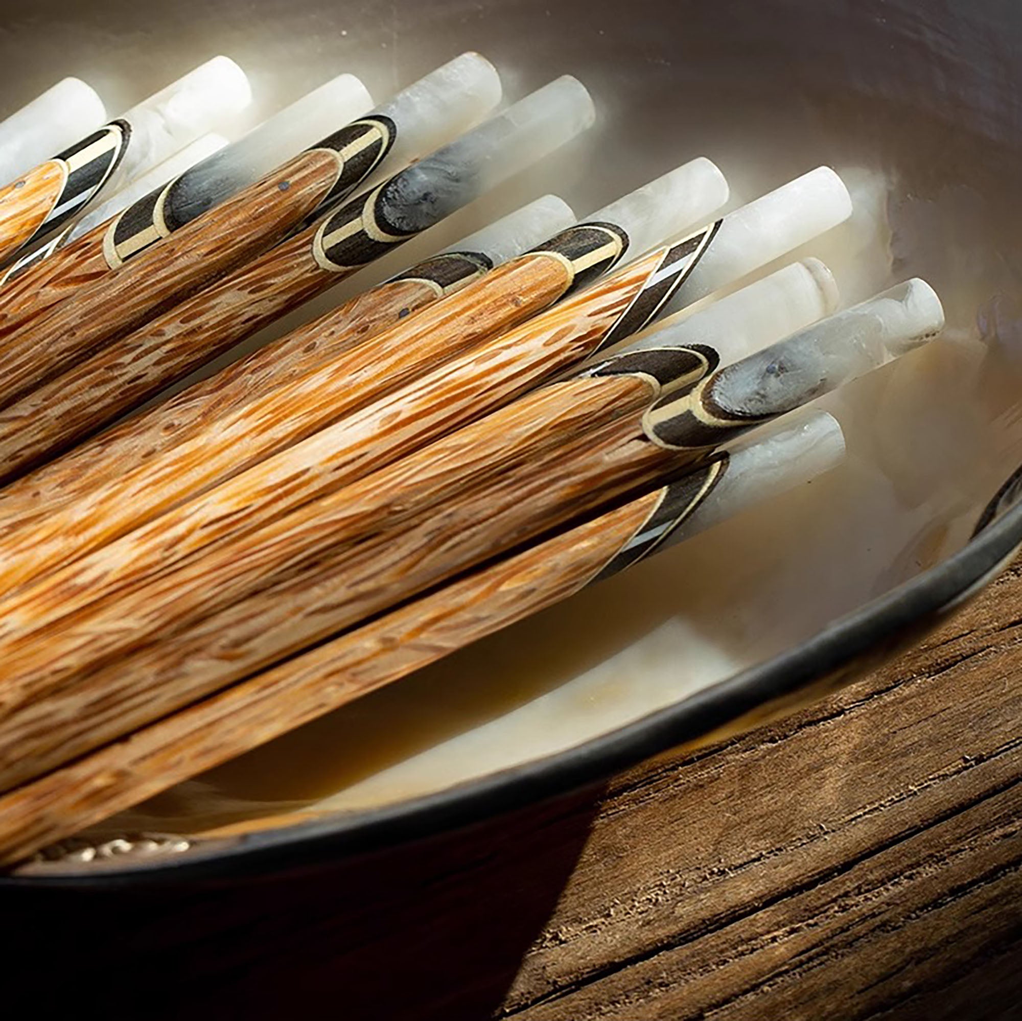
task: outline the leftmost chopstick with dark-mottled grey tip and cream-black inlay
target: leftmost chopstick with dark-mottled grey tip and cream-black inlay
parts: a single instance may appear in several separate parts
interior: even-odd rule
[[[130,193],[127,200],[91,211],[11,266],[0,290],[0,336],[256,184],[372,105],[359,79],[340,75],[232,145],[225,143],[226,151],[165,160],[121,193]]]

